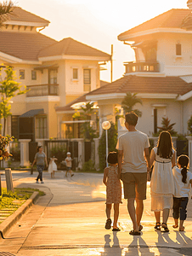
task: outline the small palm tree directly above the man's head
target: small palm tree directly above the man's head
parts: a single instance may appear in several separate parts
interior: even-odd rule
[[[137,97],[137,93],[132,94],[131,92],[127,92],[126,96],[124,97],[124,100],[121,102],[121,106],[124,110],[124,113],[133,111],[138,115],[138,117],[141,117],[141,111],[139,111],[138,109],[133,109],[133,106],[137,103],[143,105],[142,100]]]

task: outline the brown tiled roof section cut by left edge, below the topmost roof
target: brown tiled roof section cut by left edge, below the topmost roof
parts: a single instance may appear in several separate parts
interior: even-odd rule
[[[0,32],[0,52],[27,61],[38,61],[38,53],[56,41],[38,32]]]

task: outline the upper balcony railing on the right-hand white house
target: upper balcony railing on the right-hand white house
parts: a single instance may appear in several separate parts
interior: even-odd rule
[[[160,72],[160,66],[158,62],[125,62],[126,73],[135,72]]]

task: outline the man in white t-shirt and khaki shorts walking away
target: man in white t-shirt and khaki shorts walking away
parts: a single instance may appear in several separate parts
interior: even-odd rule
[[[150,172],[149,138],[135,129],[137,123],[137,114],[127,113],[125,125],[128,131],[119,137],[116,144],[118,173],[123,182],[124,198],[127,199],[127,209],[133,222],[133,230],[129,234],[133,236],[140,236],[143,229],[140,221],[144,212],[143,201],[146,199],[147,172]]]

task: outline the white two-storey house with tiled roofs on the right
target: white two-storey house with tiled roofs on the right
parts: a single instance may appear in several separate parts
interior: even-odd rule
[[[162,117],[176,123],[174,129],[188,134],[192,115],[192,1],[189,9],[171,9],[148,20],[118,39],[135,51],[135,61],[124,63],[121,79],[93,90],[86,96],[97,101],[99,119],[115,121],[115,108],[128,91],[138,93],[143,114],[138,130],[149,136],[161,126]]]

